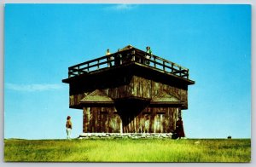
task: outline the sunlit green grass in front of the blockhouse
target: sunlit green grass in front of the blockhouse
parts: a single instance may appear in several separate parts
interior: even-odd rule
[[[7,162],[250,162],[251,140],[4,140]]]

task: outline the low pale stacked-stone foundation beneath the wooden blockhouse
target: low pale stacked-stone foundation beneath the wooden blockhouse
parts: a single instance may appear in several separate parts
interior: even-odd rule
[[[82,133],[79,139],[117,139],[117,138],[169,138],[172,139],[172,133]]]

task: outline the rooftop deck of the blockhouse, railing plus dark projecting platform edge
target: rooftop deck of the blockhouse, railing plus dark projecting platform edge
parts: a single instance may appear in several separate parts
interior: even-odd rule
[[[160,58],[157,55],[151,55],[150,59],[147,59],[146,55],[148,54],[143,50],[128,45],[119,52],[115,52],[111,55],[104,55],[100,58],[88,60],[78,65],[68,67],[68,78],[63,79],[62,82],[70,83],[71,80],[80,78],[83,75],[108,71],[122,66],[136,65],[148,68],[153,72],[160,72],[181,79],[188,84],[195,83],[189,79],[188,68],[179,66],[176,63]]]

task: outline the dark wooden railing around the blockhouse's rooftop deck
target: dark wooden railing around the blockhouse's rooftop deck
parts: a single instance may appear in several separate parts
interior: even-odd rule
[[[172,61],[165,60],[156,55],[151,55],[150,59],[146,58],[147,53],[139,49],[127,49],[104,55],[100,58],[85,61],[75,66],[68,67],[68,78],[79,76],[84,73],[95,72],[104,68],[121,66],[131,62],[137,62],[144,66],[150,66],[163,72],[172,73],[181,78],[189,79],[189,69],[179,66]]]

